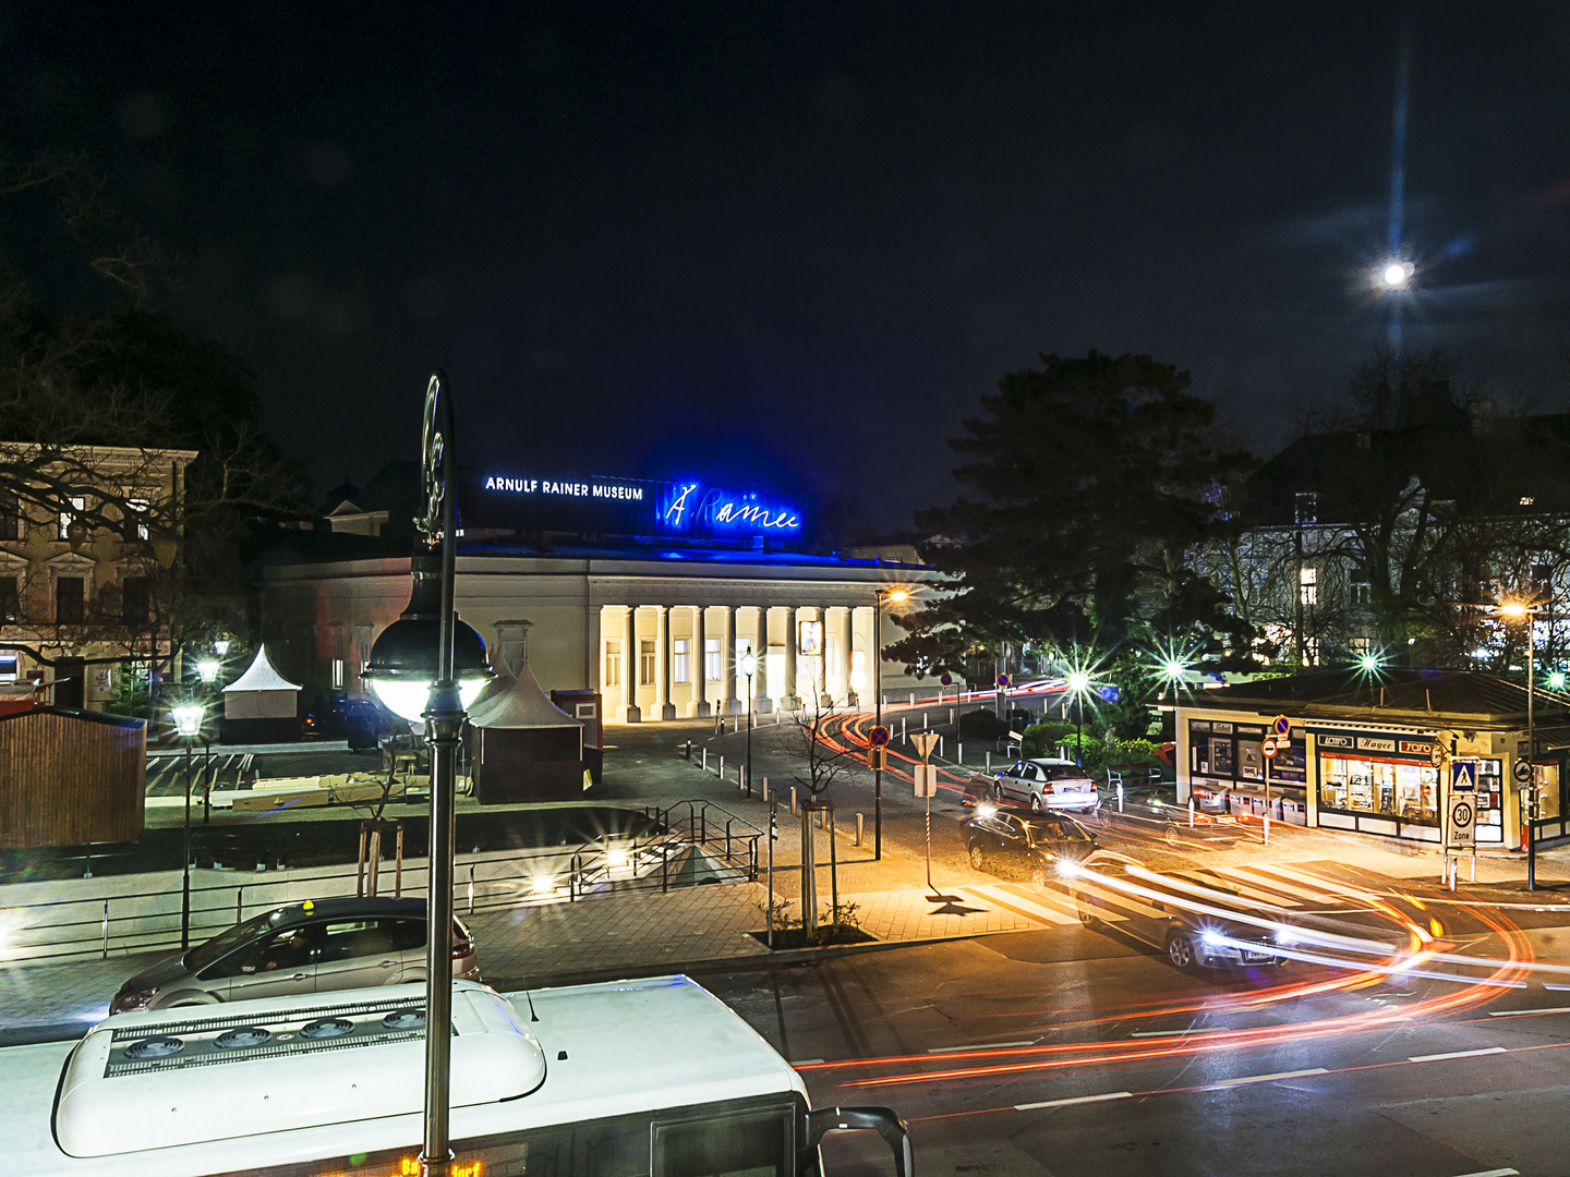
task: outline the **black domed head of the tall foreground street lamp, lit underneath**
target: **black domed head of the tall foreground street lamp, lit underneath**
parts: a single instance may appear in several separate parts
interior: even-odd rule
[[[371,647],[363,678],[382,705],[400,719],[418,723],[436,681],[441,640],[441,556],[421,552],[411,560],[414,592],[403,615],[382,631]],[[485,642],[457,617],[452,628],[452,678],[468,711],[491,680]]]

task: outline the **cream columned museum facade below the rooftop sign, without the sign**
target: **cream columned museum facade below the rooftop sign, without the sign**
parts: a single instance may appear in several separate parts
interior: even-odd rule
[[[540,684],[598,691],[608,720],[633,723],[741,714],[749,689],[763,714],[816,700],[870,706],[879,653],[904,632],[890,614],[934,592],[939,574],[920,565],[747,548],[491,545],[457,559],[458,615],[487,643],[498,621],[532,621]],[[275,563],[262,632],[295,681],[358,691],[408,593],[407,557]],[[885,694],[911,684],[884,664]]]

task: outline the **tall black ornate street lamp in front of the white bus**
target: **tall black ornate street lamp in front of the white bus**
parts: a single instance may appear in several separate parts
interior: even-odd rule
[[[422,1177],[452,1168],[449,1089],[452,1066],[452,857],[457,807],[458,739],[468,706],[490,681],[485,643],[458,621],[452,606],[457,582],[457,457],[452,441],[447,378],[435,372],[425,388],[421,438],[425,516],[416,526],[425,551],[410,559],[414,588],[408,607],[377,637],[364,678],[377,698],[414,723],[425,720],[430,747],[430,887],[425,899],[425,1133]],[[432,551],[435,549],[435,551]]]

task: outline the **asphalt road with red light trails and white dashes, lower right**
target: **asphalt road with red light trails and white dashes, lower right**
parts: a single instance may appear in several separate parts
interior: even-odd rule
[[[1567,959],[1570,916],[1427,912],[1463,954]],[[904,1116],[923,1174],[1570,1172],[1564,973],[1188,975],[1069,926],[703,981],[815,1105]],[[876,1139],[826,1157],[892,1171]]]

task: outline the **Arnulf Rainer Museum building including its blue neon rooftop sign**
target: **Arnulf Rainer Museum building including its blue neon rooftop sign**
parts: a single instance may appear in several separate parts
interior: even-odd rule
[[[327,534],[265,562],[262,636],[308,692],[363,692],[372,642],[407,606],[416,479],[392,463],[339,488]],[[611,722],[735,716],[749,692],[761,714],[870,706],[873,664],[904,634],[892,617],[942,579],[914,551],[815,554],[810,504],[696,479],[465,471],[458,512],[458,615],[488,647],[499,623],[531,621],[540,684],[600,692]],[[885,694],[912,681],[884,664]]]

